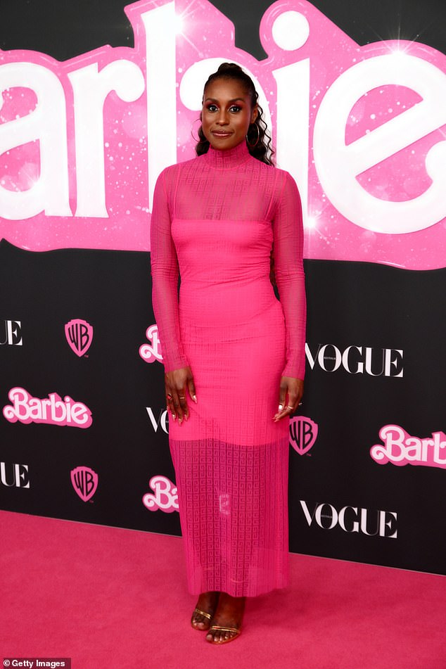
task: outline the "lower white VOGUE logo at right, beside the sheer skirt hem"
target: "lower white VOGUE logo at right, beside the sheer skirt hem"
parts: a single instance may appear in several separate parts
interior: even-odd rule
[[[310,511],[307,502],[300,499],[300,506],[308,526],[316,523],[322,530],[336,526],[348,533],[361,533],[368,537],[397,538],[397,514],[394,511],[370,511],[357,506],[343,506],[339,511],[333,504],[314,504]]]

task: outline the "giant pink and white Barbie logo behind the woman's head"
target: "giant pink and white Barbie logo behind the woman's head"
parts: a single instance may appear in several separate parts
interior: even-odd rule
[[[305,257],[443,267],[444,54],[358,46],[306,0],[267,9],[260,61],[206,0],[141,0],[126,13],[134,49],[64,63],[0,51],[0,236],[30,250],[148,250],[156,178],[192,157],[203,81],[233,60],[298,183]]]

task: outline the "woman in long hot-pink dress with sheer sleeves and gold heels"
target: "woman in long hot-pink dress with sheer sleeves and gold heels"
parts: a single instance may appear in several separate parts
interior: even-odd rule
[[[247,596],[287,584],[288,416],[303,391],[305,290],[298,190],[272,167],[257,92],[238,65],[210,75],[201,123],[197,158],[167,167],[155,187],[153,309],[198,594],[191,624],[222,644],[240,634]]]

